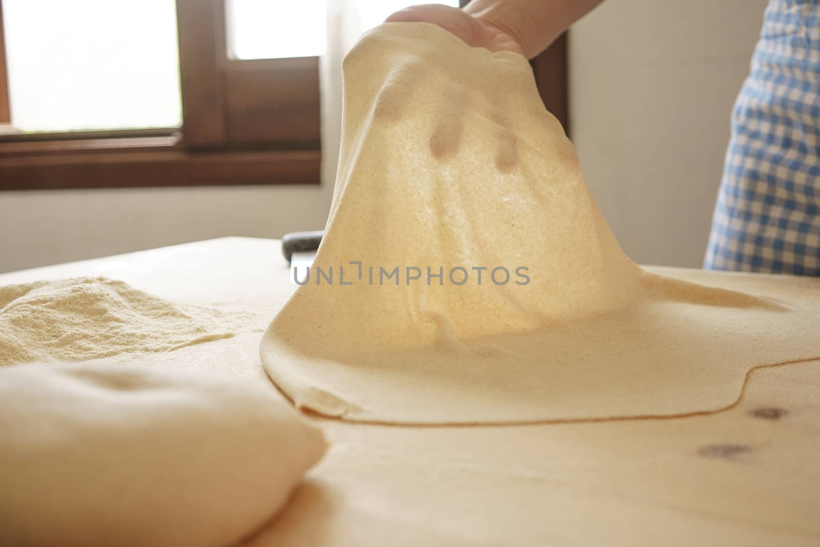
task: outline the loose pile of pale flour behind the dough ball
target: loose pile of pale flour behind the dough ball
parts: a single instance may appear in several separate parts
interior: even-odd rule
[[[0,287],[0,366],[168,352],[230,338],[242,317],[103,277]]]

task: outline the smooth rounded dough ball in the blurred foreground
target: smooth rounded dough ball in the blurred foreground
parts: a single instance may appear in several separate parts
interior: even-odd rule
[[[112,363],[0,370],[0,545],[217,547],[326,449],[274,390]]]

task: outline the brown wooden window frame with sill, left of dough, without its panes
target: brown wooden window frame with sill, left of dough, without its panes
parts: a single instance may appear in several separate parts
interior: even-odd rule
[[[318,57],[228,55],[226,0],[177,0],[183,125],[0,133],[0,191],[317,185]],[[0,123],[9,121],[0,0]]]

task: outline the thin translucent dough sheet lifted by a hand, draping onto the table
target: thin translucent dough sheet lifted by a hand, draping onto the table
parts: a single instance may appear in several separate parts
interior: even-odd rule
[[[523,57],[390,23],[343,68],[325,238],[262,339],[298,407],[412,424],[676,416],[735,403],[754,367],[820,357],[820,285],[791,301],[626,257]]]

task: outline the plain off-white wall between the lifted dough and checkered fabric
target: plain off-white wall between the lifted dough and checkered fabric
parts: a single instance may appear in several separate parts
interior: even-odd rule
[[[767,0],[608,0],[570,33],[572,140],[635,262],[700,267]]]

